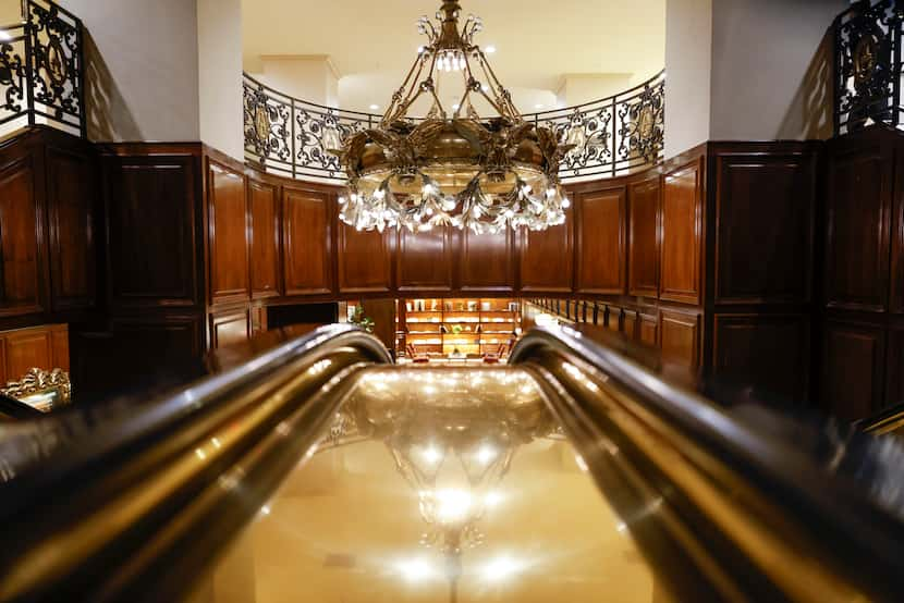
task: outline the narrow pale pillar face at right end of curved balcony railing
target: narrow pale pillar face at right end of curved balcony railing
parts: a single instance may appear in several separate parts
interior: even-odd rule
[[[665,157],[710,137],[709,74],[714,2],[668,0],[665,5]]]

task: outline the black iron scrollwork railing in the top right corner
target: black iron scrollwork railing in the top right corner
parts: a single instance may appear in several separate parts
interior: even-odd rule
[[[835,20],[835,133],[901,123],[902,9],[858,3]]]

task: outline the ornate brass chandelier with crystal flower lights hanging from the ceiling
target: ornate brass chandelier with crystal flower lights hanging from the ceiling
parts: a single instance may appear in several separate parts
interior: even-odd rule
[[[482,22],[468,15],[461,25],[460,15],[457,0],[443,0],[436,24],[418,20],[428,44],[377,127],[351,132],[344,140],[334,126],[325,130],[323,147],[339,155],[347,176],[339,198],[346,224],[380,232],[452,225],[481,234],[564,223],[570,201],[559,164],[572,145],[524,120],[474,44]],[[456,91],[451,108],[441,100],[448,88]],[[411,118],[422,97],[430,110]],[[492,115],[481,116],[473,101]]]

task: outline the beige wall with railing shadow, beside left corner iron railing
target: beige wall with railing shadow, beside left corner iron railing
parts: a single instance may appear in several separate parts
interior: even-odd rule
[[[88,136],[197,140],[195,0],[61,0],[88,29]]]

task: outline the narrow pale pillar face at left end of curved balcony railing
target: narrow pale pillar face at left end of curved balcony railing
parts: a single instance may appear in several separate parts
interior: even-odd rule
[[[197,0],[200,139],[241,159],[242,2]]]

